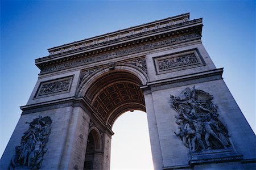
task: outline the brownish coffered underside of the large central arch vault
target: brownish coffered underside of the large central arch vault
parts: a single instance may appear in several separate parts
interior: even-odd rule
[[[137,76],[112,70],[88,88],[86,97],[96,114],[112,127],[114,121],[126,111],[137,109],[146,112],[143,92],[139,88],[141,85]]]

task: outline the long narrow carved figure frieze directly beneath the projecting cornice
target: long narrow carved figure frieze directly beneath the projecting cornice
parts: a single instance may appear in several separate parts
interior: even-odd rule
[[[199,35],[199,33],[192,33],[190,35],[174,37],[172,39],[153,42],[153,43],[146,44],[146,45],[134,46],[132,48],[123,49],[123,50],[119,50],[117,52],[112,52],[112,53],[108,53],[108,54],[102,54],[100,56],[83,58],[83,59],[79,59],[79,60],[76,60],[76,61],[71,61],[71,62],[68,62],[68,63],[62,63],[62,64],[55,65],[55,66],[48,66],[48,67],[45,67],[44,69],[42,69],[41,73],[51,73],[53,71],[69,69],[71,67],[81,66],[81,65],[84,65],[84,64],[87,64],[87,63],[103,61],[105,59],[110,59],[110,58],[125,56],[125,55],[128,55],[128,54],[142,52],[142,51],[145,51],[145,50],[160,48],[162,46],[172,45],[172,44],[175,44],[177,42],[191,40],[191,39],[197,39],[197,38],[200,38],[200,37],[201,36]]]

